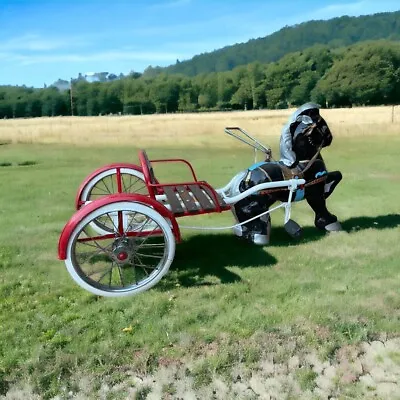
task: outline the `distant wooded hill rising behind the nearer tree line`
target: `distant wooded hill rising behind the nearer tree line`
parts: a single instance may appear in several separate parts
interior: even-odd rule
[[[195,76],[201,73],[230,71],[239,65],[256,61],[277,61],[288,53],[302,51],[318,44],[334,49],[379,39],[400,40],[400,11],[360,17],[343,16],[327,21],[309,21],[286,26],[264,38],[196,55],[191,60],[177,61],[166,68],[149,67],[144,75],[168,72]]]

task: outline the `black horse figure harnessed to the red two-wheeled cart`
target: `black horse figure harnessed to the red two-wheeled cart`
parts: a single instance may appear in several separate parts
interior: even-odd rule
[[[254,164],[237,175],[236,190],[243,192],[260,183],[282,181],[296,176],[304,178],[304,189],[297,189],[292,201],[307,201],[315,213],[314,223],[318,229],[339,231],[341,225],[337,217],[328,211],[326,199],[342,179],[342,174],[339,171],[328,172],[320,154],[321,149],[332,142],[331,131],[319,114],[298,117],[291,130],[292,149],[297,158],[296,168],[289,168],[282,162],[265,161]],[[276,201],[287,200],[286,189],[265,190],[239,201],[233,211],[238,222],[244,222],[267,211]],[[253,243],[265,245],[269,242],[270,229],[271,219],[267,214],[238,227],[235,234]],[[294,237],[300,234],[300,227],[296,223],[287,230]]]

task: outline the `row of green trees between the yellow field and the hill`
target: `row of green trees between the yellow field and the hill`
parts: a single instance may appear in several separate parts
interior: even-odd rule
[[[71,90],[0,87],[0,118],[276,109],[315,101],[343,107],[400,103],[400,43],[313,46],[277,62],[188,77],[134,73]]]

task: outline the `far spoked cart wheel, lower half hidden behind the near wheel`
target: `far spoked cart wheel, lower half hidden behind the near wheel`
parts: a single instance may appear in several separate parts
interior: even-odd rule
[[[83,187],[81,205],[116,193],[148,194],[143,173],[133,168],[110,168],[90,179]]]

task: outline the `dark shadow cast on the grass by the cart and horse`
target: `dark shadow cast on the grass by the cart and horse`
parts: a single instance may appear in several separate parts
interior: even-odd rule
[[[352,217],[343,221],[342,226],[347,232],[392,229],[400,226],[400,215]],[[160,289],[170,289],[176,284],[191,287],[239,282],[241,277],[232,272],[230,266],[271,267],[278,260],[268,253],[268,247],[301,246],[325,235],[313,226],[306,226],[302,239],[296,241],[283,227],[272,227],[271,243],[264,248],[244,242],[231,233],[194,235],[177,246],[171,270],[162,280]]]

